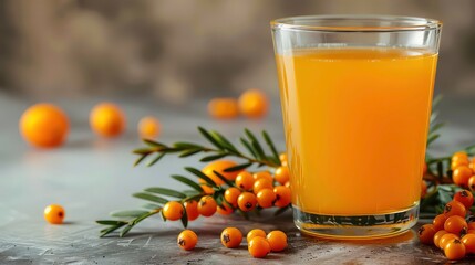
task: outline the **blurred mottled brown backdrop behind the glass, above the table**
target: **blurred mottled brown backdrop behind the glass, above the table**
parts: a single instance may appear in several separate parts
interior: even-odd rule
[[[475,98],[475,2],[1,0],[0,91],[186,104],[249,87],[277,96],[271,19],[379,13],[444,22],[436,91]]]

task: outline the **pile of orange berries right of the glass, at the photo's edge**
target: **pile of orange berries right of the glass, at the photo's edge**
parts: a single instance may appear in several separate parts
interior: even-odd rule
[[[467,222],[468,209],[474,197],[468,190],[455,193],[442,214],[432,224],[424,224],[417,232],[421,243],[440,247],[448,259],[457,261],[475,254],[475,222]]]

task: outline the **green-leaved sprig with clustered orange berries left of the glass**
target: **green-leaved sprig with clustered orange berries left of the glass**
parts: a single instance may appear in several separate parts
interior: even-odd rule
[[[148,201],[143,208],[146,210],[116,211],[111,215],[118,220],[99,220],[99,224],[107,225],[101,231],[105,236],[120,229],[120,236],[127,234],[141,221],[161,214],[164,221],[180,220],[186,227],[189,221],[199,215],[208,218],[216,212],[231,214],[237,211],[248,219],[249,213],[258,213],[265,208],[279,208],[276,215],[290,208],[289,170],[287,157],[279,155],[272,140],[266,131],[262,138],[271,155],[267,155],[264,146],[250,130],[245,130],[240,142],[248,153],[239,150],[227,138],[217,131],[208,131],[198,127],[200,135],[213,147],[193,142],[175,142],[172,146],[145,139],[146,148],[134,150],[140,158],[135,165],[142,163],[147,157],[155,157],[147,163],[155,165],[166,155],[189,157],[205,153],[200,161],[210,162],[203,170],[185,167],[189,176],[173,174],[172,178],[189,187],[190,190],[176,191],[162,187],[146,188],[133,197]],[[245,160],[236,163],[223,160],[234,157]],[[255,171],[249,168],[254,166]],[[260,167],[273,171],[262,170]],[[197,179],[197,181],[193,180]]]

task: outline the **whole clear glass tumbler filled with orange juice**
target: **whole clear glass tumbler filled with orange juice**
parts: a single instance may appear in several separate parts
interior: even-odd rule
[[[296,225],[335,239],[411,229],[442,23],[313,15],[271,29]]]

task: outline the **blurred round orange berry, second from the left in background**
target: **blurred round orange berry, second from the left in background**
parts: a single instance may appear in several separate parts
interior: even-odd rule
[[[96,105],[89,117],[93,131],[103,137],[115,137],[125,129],[125,115],[121,108],[112,103]]]

